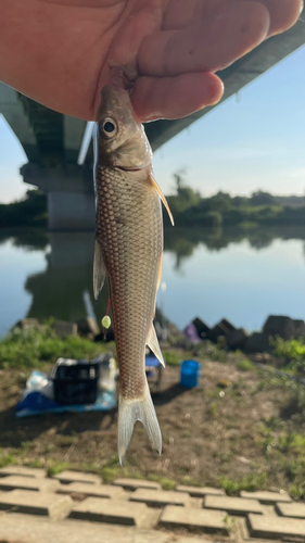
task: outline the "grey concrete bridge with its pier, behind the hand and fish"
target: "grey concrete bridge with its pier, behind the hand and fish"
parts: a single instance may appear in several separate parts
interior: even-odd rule
[[[221,101],[302,47],[305,43],[304,22],[305,10],[301,20],[289,31],[270,38],[219,73],[226,89]],[[153,150],[211,109],[206,108],[178,121],[148,124],[145,130]],[[1,83],[0,113],[27,155],[28,163],[21,168],[24,181],[39,187],[48,194],[50,230],[92,229],[92,123],[49,110]]]

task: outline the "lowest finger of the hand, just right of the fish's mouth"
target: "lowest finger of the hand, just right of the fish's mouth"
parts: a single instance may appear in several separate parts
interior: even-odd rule
[[[178,77],[139,77],[131,102],[141,122],[180,118],[217,103],[223,81],[214,74],[191,73]]]

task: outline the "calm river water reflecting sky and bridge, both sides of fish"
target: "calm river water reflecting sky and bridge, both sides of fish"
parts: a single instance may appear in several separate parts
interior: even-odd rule
[[[0,337],[18,319],[100,320],[92,295],[93,232],[0,230]],[[195,316],[260,329],[268,315],[305,318],[305,231],[165,230],[157,304],[180,328]]]

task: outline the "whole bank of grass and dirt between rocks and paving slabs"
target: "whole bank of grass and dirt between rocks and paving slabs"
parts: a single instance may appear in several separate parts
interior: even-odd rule
[[[283,370],[295,356],[295,344],[289,344],[275,346],[281,355],[284,348],[287,362],[275,358]],[[59,355],[91,357],[112,348],[81,338],[60,340],[50,327],[13,331],[0,342],[0,466],[41,466],[50,473],[85,469],[100,473],[105,482],[118,476],[145,477],[164,489],[176,483],[208,484],[232,495],[275,487],[295,498],[305,497],[304,386],[279,369],[262,369],[241,353],[228,354],[217,345],[206,343],[188,353],[164,350],[167,368],[161,394],[151,381],[163,433],[161,457],[137,425],[120,468],[116,411],[15,418],[31,367],[48,371]],[[196,389],[178,384],[183,355],[202,363]]]

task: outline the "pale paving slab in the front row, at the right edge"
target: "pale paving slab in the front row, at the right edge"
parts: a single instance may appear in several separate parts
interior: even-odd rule
[[[304,520],[267,515],[247,516],[247,528],[252,538],[281,540],[283,538],[305,538]]]

